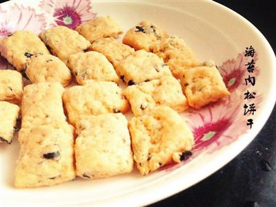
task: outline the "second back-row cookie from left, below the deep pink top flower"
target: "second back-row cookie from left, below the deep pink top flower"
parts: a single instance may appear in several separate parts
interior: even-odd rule
[[[39,34],[42,41],[64,63],[68,63],[68,56],[77,52],[83,52],[90,46],[90,42],[78,32],[70,30],[66,26],[50,28]]]

